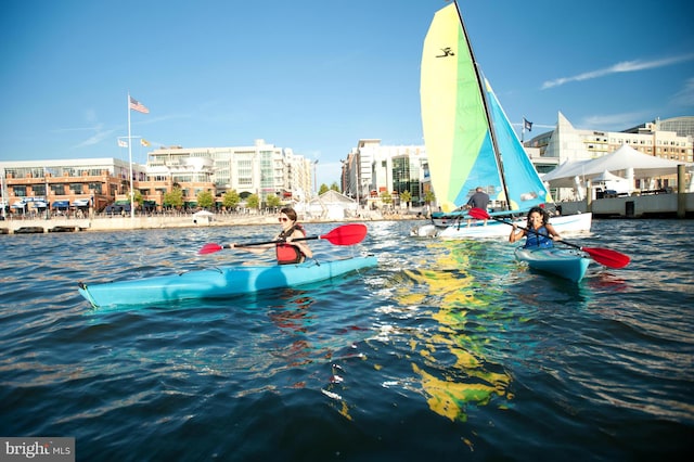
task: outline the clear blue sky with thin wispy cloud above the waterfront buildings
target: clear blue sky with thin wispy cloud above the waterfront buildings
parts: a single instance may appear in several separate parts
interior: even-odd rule
[[[361,139],[423,144],[420,61],[446,0],[3,0],[0,159],[128,159],[256,139],[338,181]],[[619,131],[694,115],[684,0],[460,0],[477,61],[529,139],[561,112]],[[690,11],[690,13],[687,13]],[[146,149],[133,143],[133,161]]]

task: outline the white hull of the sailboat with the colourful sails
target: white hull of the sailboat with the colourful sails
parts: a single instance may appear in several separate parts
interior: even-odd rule
[[[576,215],[563,215],[558,217],[552,217],[550,222],[560,234],[575,234],[581,232],[589,232],[592,224],[592,214],[576,214]],[[516,224],[525,227],[527,219],[522,218],[516,221]],[[484,220],[471,220],[471,224],[467,226],[467,220],[460,220],[457,224],[446,228],[439,228],[433,230],[433,224],[425,224],[417,229],[412,230],[411,235],[417,236],[437,236],[441,239],[484,239],[484,238],[507,238],[511,233],[511,227],[507,223],[501,223],[494,220],[487,220],[485,224]]]

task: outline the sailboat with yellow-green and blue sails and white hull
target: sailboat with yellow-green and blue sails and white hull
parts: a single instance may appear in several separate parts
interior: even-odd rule
[[[424,40],[420,85],[429,175],[441,209],[433,215],[448,221],[415,228],[413,235],[507,235],[509,229],[498,221],[474,220],[463,210],[478,187],[489,194],[492,216],[518,215],[552,202],[478,68],[455,1],[434,15]],[[591,219],[591,214],[556,216],[552,224],[560,233],[589,231]]]

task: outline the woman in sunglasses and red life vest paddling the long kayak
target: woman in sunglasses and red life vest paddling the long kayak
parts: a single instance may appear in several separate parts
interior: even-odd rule
[[[274,248],[279,265],[300,264],[307,258],[312,258],[313,253],[306,244],[306,241],[294,241],[306,236],[304,227],[297,222],[296,210],[292,207],[282,208],[279,220],[282,231],[274,238],[274,241],[280,242],[253,247],[236,246],[236,243],[232,243],[230,245],[231,248],[239,248],[254,254],[262,254],[269,248]]]

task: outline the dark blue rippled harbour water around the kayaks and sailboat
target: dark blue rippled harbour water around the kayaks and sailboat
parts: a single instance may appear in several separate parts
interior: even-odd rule
[[[77,281],[269,256],[277,227],[0,236],[0,435],[78,460],[684,460],[694,436],[694,221],[595,220],[624,252],[571,285],[513,244],[369,222],[376,269],[223,300],[93,310]],[[309,224],[311,234],[338,223]],[[689,458],[687,458],[689,459]]]

